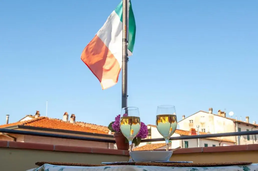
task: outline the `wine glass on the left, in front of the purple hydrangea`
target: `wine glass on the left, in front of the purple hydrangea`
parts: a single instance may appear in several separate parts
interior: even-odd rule
[[[122,134],[128,139],[129,152],[132,151],[132,142],[141,128],[140,113],[137,107],[122,108],[120,114],[120,129]],[[129,162],[133,159],[130,156]]]

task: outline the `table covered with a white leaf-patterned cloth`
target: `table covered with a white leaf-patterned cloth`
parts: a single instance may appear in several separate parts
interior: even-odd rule
[[[224,167],[160,167],[160,166],[98,166],[98,167],[82,167],[82,166],[55,166],[44,164],[43,166],[27,171],[258,171],[258,164],[224,166]]]

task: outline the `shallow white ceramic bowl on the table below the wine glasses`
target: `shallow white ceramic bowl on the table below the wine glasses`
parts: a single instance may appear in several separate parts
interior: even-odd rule
[[[168,161],[173,151],[131,151],[130,156],[136,162],[141,161]]]

